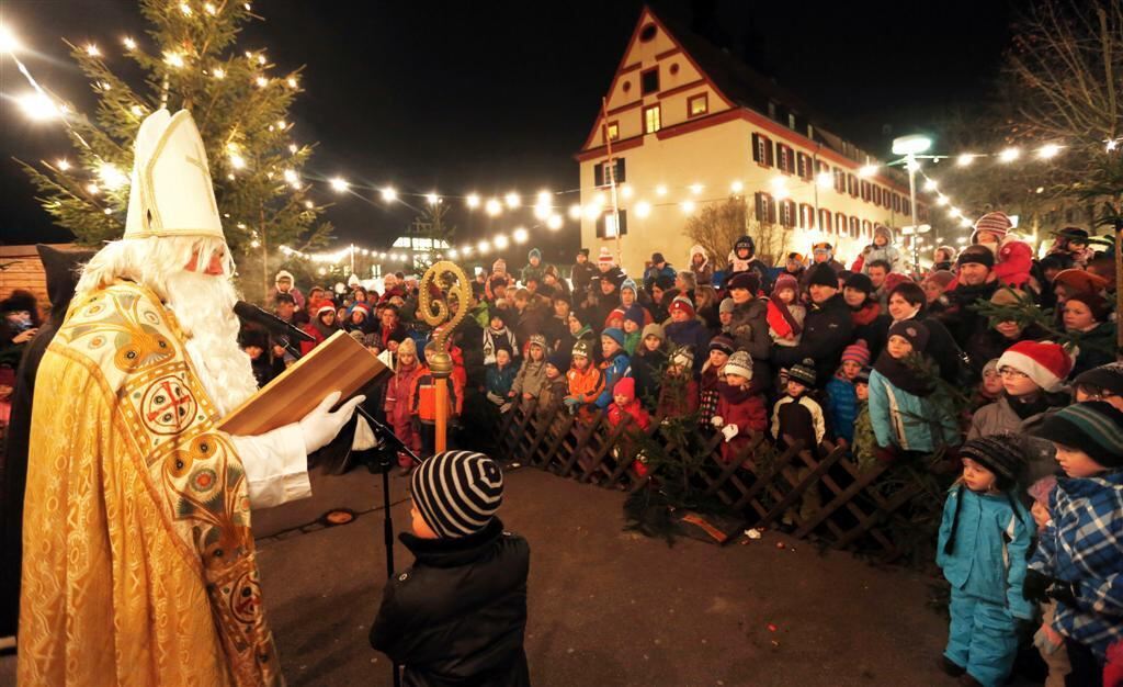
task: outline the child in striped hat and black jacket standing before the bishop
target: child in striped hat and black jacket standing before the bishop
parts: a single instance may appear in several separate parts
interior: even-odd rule
[[[503,471],[483,453],[445,451],[410,483],[414,563],[383,591],[371,645],[407,685],[529,685],[523,634],[530,546],[503,531]]]

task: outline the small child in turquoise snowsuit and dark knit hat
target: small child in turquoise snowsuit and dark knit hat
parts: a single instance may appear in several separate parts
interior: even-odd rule
[[[942,667],[1003,685],[1017,654],[1017,622],[1033,618],[1022,596],[1035,525],[1013,496],[1025,462],[1014,437],[996,434],[960,449],[964,474],[943,507],[935,562],[951,582]]]

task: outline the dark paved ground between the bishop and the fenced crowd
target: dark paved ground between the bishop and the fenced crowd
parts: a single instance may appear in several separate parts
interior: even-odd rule
[[[393,479],[399,530],[404,487]],[[287,681],[390,685],[385,657],[366,640],[384,577],[382,513],[290,530],[334,506],[380,506],[381,486],[354,471],[316,476],[313,488],[309,500],[255,515]],[[773,533],[724,549],[668,548],[622,532],[621,494],[538,470],[509,471],[506,489],[506,526],[532,549],[527,652],[537,687],[952,684],[933,668],[946,625],[917,576]],[[395,555],[399,568],[411,561],[401,545]],[[0,661],[0,684],[12,663]]]

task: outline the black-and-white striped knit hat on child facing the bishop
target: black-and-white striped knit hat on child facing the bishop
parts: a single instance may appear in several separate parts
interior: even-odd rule
[[[474,451],[445,451],[418,465],[410,479],[413,503],[441,539],[483,531],[503,503],[503,471]]]

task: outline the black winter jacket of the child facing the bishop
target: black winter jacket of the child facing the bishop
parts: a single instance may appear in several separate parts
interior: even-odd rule
[[[403,684],[530,685],[527,540],[499,518],[463,539],[400,539],[417,560],[386,586],[371,645],[405,667]]]

